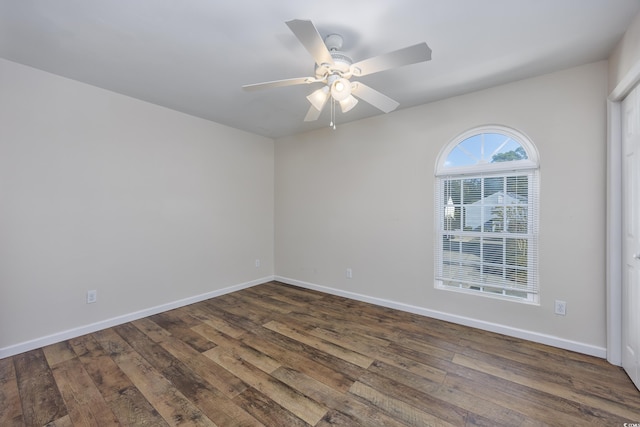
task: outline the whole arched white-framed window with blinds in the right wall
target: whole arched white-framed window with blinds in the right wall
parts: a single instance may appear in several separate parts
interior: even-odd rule
[[[436,165],[435,285],[538,302],[538,153],[524,134],[482,126]]]

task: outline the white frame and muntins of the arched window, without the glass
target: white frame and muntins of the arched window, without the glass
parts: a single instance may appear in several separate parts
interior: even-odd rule
[[[473,164],[473,165],[450,166],[447,164],[447,160],[449,159],[449,156],[461,143],[463,143],[469,138],[476,137],[478,135],[483,135],[483,134],[501,134],[512,139],[513,141],[517,142],[520,145],[520,147],[522,147],[525,150],[527,154],[527,158],[521,159],[521,160],[511,160],[511,161],[495,162],[495,163],[491,163],[490,160],[481,158],[481,159],[478,159],[478,162],[476,162],[476,164]],[[484,145],[483,137],[480,138],[480,141]],[[484,149],[484,146],[480,150],[482,153],[482,156],[484,156],[483,149]],[[527,235],[526,239],[527,239],[527,248],[528,248],[527,249],[527,266],[526,266],[527,288],[529,288],[531,291],[529,290],[527,290],[526,292],[507,291],[505,288],[503,288],[503,290],[501,291],[502,293],[496,293],[495,289],[500,288],[501,286],[504,286],[504,284],[496,287],[496,286],[490,286],[487,283],[484,283],[484,286],[482,286],[480,282],[476,282],[473,285],[469,285],[467,283],[467,286],[463,286],[460,279],[454,279],[454,275],[455,275],[454,273],[452,273],[451,277],[448,277],[448,279],[450,279],[450,281],[453,283],[457,283],[457,286],[446,284],[443,280],[443,278],[445,280],[447,279],[444,277],[444,274],[443,274],[445,271],[444,266],[445,266],[445,263],[447,262],[445,261],[446,257],[444,255],[446,250],[444,240],[445,240],[445,236],[447,235],[448,235],[448,238],[451,239],[451,235],[454,233],[451,233],[452,230],[450,228],[447,228],[445,223],[445,217],[446,217],[445,211],[448,209],[451,209],[451,207],[449,207],[449,205],[442,199],[443,197],[445,197],[445,193],[446,193],[446,191],[444,190],[445,183],[447,181],[464,180],[467,178],[484,180],[486,178],[503,177],[505,180],[508,180],[509,179],[508,177],[513,177],[514,175],[526,175],[528,177],[527,178],[527,218],[528,218],[527,221],[528,222],[527,222],[527,232],[525,234]],[[533,144],[533,142],[531,141],[531,139],[528,138],[522,132],[519,132],[512,128],[508,128],[506,126],[501,126],[501,125],[485,125],[485,126],[478,126],[478,127],[469,129],[459,134],[455,138],[453,138],[448,144],[446,144],[442,148],[438,156],[438,160],[436,162],[435,178],[436,178],[435,194],[434,194],[435,205],[436,205],[435,230],[434,230],[435,236],[436,236],[435,253],[434,253],[435,288],[440,290],[464,292],[464,293],[470,293],[478,296],[486,296],[486,297],[506,299],[511,301],[539,305],[540,286],[539,286],[539,275],[538,275],[538,264],[539,264],[539,257],[538,257],[539,220],[538,218],[539,218],[539,212],[540,212],[540,196],[539,196],[540,176],[539,176],[538,151],[535,145]],[[484,181],[482,181],[482,186],[484,186]],[[492,194],[495,194],[495,193],[491,193],[489,194],[489,196],[491,196]],[[488,196],[484,196],[484,193],[483,193],[483,198],[485,197],[488,197]],[[459,206],[459,208],[461,209],[463,206],[464,205],[461,205]],[[473,232],[465,231],[463,227],[460,227],[460,229],[457,230],[455,234],[460,236],[468,234],[469,236],[474,236],[476,238],[481,237],[480,242],[484,242],[485,239],[494,238],[496,236],[494,233],[486,231],[484,229],[484,226],[481,227],[480,231],[476,230]],[[506,242],[509,239],[509,236],[507,235],[508,235],[508,232],[503,231],[502,238],[505,239],[504,244],[507,244]],[[479,253],[482,253],[485,250],[484,245],[485,243],[481,243],[482,248],[480,249]],[[531,248],[531,251],[529,251],[529,248]],[[451,250],[451,247],[449,247],[449,251],[450,250]],[[503,253],[504,253],[504,256],[507,256],[507,252],[503,252]],[[460,254],[462,254],[462,250],[460,250]],[[451,256],[451,253],[449,253],[449,256]],[[509,256],[514,257],[516,255],[511,254]],[[484,271],[486,264],[490,264],[490,262],[485,262],[485,260],[482,258],[478,261],[478,263],[482,265],[482,267],[480,268],[480,271]],[[461,262],[460,262],[460,265],[462,265]],[[503,260],[502,266],[504,268],[504,271],[506,272],[507,271],[506,261]],[[480,275],[482,276],[482,274]],[[486,279],[482,279],[482,280],[486,280]],[[503,280],[506,281],[506,279],[504,279],[504,273],[503,273]],[[533,282],[530,282],[530,280]],[[488,291],[488,290],[485,290],[485,288],[492,288],[494,289],[494,291]],[[509,294],[509,292],[511,294]],[[519,296],[518,294],[520,295],[526,294],[526,297]]]

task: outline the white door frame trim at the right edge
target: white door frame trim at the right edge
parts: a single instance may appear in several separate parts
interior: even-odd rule
[[[621,102],[640,82],[640,61],[607,98],[607,360],[622,364],[622,112]]]

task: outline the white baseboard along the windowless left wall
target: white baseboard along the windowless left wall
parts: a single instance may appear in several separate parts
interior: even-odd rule
[[[34,340],[25,341],[15,345],[10,345],[8,347],[3,347],[3,348],[0,348],[0,359],[9,357],[9,356],[14,356],[16,354],[24,353],[25,351],[34,350],[36,348],[45,347],[47,345],[55,344],[57,342],[61,342],[71,338],[76,338],[82,335],[90,334],[92,332],[100,331],[102,329],[110,328],[112,326],[121,325],[123,323],[131,322],[133,320],[142,319],[143,317],[152,316],[154,314],[162,313],[168,310],[173,310],[174,308],[184,307],[185,305],[204,301],[210,298],[215,298],[217,296],[239,291],[241,289],[250,288],[252,286],[256,286],[265,282],[270,282],[272,280],[274,280],[274,276],[263,277],[261,279],[252,280],[250,282],[240,283],[238,285],[233,285],[223,289],[218,289],[215,291],[196,295],[193,297],[172,301],[172,302],[161,304],[155,307],[145,308],[144,310],[136,311],[129,314],[124,314],[122,316],[112,317],[110,319],[101,320],[99,322],[79,326],[77,328],[68,329],[62,332],[57,332],[55,334],[36,338]]]

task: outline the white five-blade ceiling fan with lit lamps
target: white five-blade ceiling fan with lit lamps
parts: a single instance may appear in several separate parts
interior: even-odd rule
[[[343,113],[356,106],[358,103],[356,97],[385,113],[395,110],[400,105],[398,102],[364,83],[352,82],[350,79],[431,59],[431,49],[423,42],[354,63],[340,50],[342,36],[339,34],[330,34],[323,40],[311,21],[294,19],[287,21],[286,24],[315,60],[315,75],[250,84],[242,88],[258,90],[322,83],[323,86],[320,89],[307,96],[311,107],[304,118],[306,122],[317,120],[329,100],[332,101],[330,126],[334,128],[335,103],[340,104]]]

